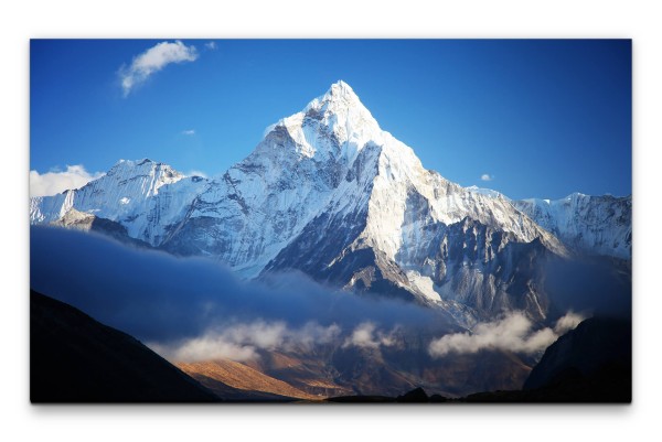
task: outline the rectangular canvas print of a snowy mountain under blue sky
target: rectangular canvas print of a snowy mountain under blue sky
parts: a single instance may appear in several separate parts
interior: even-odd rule
[[[631,401],[630,40],[32,40],[30,398]]]

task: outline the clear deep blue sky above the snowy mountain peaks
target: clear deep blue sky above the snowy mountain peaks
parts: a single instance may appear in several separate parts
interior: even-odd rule
[[[461,185],[513,198],[631,193],[628,40],[183,40],[180,63],[131,71],[166,41],[174,47],[33,40],[30,169],[150,158],[218,174],[343,79],[426,168]]]

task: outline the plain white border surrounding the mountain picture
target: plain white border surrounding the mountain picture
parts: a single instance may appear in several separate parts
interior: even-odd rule
[[[3,433],[22,440],[628,440],[660,408],[655,181],[660,14],[634,2],[557,0],[6,1],[0,7],[3,152]],[[433,7],[434,4],[434,7]],[[32,407],[28,402],[29,39],[632,37],[634,83],[634,403],[630,407]],[[9,134],[9,137],[7,137]],[[54,381],[56,381],[54,379]],[[650,425],[650,427],[649,427]]]

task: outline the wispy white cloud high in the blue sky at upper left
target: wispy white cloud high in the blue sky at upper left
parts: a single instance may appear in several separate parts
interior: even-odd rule
[[[130,66],[121,66],[119,78],[124,96],[131,89],[145,83],[150,75],[161,71],[171,63],[194,62],[197,58],[195,46],[186,46],[179,40],[174,43],[161,42],[142,54],[134,57]]]

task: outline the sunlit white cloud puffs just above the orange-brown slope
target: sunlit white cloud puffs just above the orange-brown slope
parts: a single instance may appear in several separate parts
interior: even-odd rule
[[[312,348],[329,344],[340,335],[340,327],[328,327],[308,322],[300,328],[290,328],[285,322],[255,321],[235,323],[222,330],[172,345],[151,343],[149,346],[171,362],[199,362],[210,359],[254,360],[258,351],[287,351],[293,347]]]

